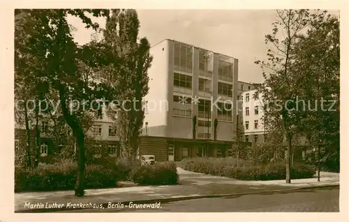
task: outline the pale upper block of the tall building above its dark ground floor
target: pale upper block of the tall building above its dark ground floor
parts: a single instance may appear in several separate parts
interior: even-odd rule
[[[213,139],[217,119],[216,139],[232,141],[236,134],[237,59],[174,40],[163,40],[150,52],[154,59],[149,93],[144,97],[148,104],[144,134],[193,138],[196,116],[196,138]],[[226,109],[221,111],[218,108],[224,102]]]

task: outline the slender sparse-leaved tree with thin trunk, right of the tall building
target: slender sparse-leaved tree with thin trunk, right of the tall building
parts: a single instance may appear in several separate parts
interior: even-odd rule
[[[294,101],[297,95],[297,84],[292,75],[291,64],[294,61],[294,47],[299,33],[309,24],[309,10],[276,10],[277,21],[273,23],[272,33],[265,35],[269,45],[267,61],[256,61],[263,70],[265,82],[260,88],[266,104],[266,129],[275,125],[269,124],[281,118],[283,134],[287,141],[286,183],[291,182],[290,158],[292,152],[292,135],[295,132],[296,113]],[[281,33],[284,33],[282,38]],[[269,129],[268,129],[269,128]],[[272,129],[270,129],[272,131]]]

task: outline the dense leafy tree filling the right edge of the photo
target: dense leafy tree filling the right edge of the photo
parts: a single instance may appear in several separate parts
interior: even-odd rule
[[[319,181],[321,162],[339,163],[339,51],[339,20],[326,11],[313,17],[295,45],[293,66],[302,99],[299,131],[318,152]]]

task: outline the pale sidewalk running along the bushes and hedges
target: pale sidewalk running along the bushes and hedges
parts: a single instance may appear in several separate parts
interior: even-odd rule
[[[339,184],[339,175],[323,175],[317,182],[316,178],[292,180],[292,184],[285,181],[241,181],[227,177],[216,177],[202,173],[193,173],[177,168],[179,185],[174,186],[147,186],[124,187],[115,189],[86,190],[85,196],[78,198],[74,191],[30,192],[15,193],[15,212],[52,212],[57,210],[74,209],[71,204],[103,204],[108,203],[155,203],[156,201],[169,202],[191,198],[208,198],[213,196],[243,195],[247,193],[287,191],[302,187],[318,187]],[[331,180],[330,180],[331,179]],[[27,206],[26,206],[27,203]],[[38,209],[40,204],[61,204],[63,208]],[[36,205],[30,209],[28,205]],[[42,205],[41,205],[42,206]]]

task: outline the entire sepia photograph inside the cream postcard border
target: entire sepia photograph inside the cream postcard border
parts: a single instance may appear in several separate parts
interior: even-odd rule
[[[115,6],[13,10],[15,214],[340,212],[340,10]]]

